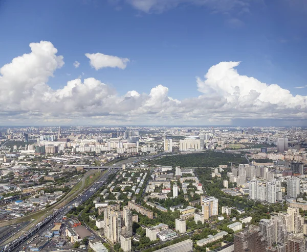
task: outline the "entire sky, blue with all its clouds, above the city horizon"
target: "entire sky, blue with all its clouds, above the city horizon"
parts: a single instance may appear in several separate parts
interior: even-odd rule
[[[17,2],[0,125],[307,125],[304,1]]]

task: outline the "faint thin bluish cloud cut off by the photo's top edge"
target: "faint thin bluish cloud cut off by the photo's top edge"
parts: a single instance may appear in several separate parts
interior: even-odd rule
[[[237,9],[238,12],[249,12],[249,2],[243,0],[125,0],[137,10],[163,12],[179,5],[206,6],[214,12],[228,13]]]

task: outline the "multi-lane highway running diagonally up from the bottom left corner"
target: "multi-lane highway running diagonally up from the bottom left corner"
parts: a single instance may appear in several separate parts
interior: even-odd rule
[[[54,222],[58,222],[63,215],[66,215],[70,211],[69,206],[76,202],[82,204],[85,200],[89,199],[105,183],[107,177],[112,173],[115,173],[116,171],[116,168],[108,169],[107,172],[98,180],[98,182],[94,183],[89,189],[87,189],[81,195],[70,201],[70,203],[68,203],[64,207],[55,210],[52,214],[50,214],[47,218],[36,224],[28,232],[24,233],[16,240],[2,247],[1,251],[15,252],[21,250],[22,245],[26,245],[27,242],[32,241],[35,237],[38,237],[42,233],[51,229]]]

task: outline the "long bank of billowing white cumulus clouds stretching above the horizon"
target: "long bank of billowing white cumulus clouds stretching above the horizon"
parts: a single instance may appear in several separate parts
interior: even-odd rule
[[[48,80],[63,66],[51,42],[0,68],[0,123],[229,124],[234,119],[307,120],[307,96],[240,75],[239,62],[221,62],[196,78],[198,97],[178,100],[166,86],[119,95],[95,78],[52,89]],[[2,121],[2,122],[1,122]]]

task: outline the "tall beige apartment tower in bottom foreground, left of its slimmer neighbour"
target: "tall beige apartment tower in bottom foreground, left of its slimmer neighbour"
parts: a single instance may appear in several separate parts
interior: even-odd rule
[[[120,242],[121,212],[118,205],[109,205],[104,209],[104,236],[115,244]]]

